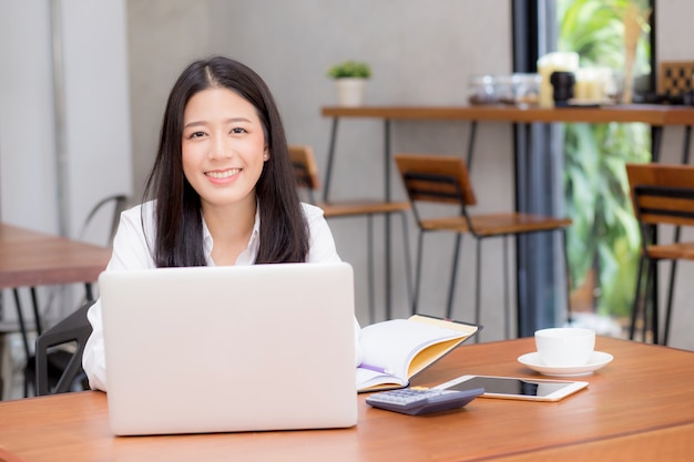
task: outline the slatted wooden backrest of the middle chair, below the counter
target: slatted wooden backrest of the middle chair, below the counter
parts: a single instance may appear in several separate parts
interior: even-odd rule
[[[474,205],[468,168],[458,156],[396,154],[395,162],[412,202]]]

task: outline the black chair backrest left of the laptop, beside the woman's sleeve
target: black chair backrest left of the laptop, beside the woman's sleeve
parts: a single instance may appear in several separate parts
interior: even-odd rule
[[[82,305],[76,311],[45,330],[37,338],[35,351],[35,393],[44,396],[71,391],[72,384],[82,373],[82,352],[86,339],[92,333],[92,326],[86,319],[86,311],[93,301]],[[55,349],[60,346],[74,348]],[[61,357],[60,365],[53,365],[53,358]],[[63,363],[64,362],[64,363]],[[50,371],[58,369],[58,380]]]

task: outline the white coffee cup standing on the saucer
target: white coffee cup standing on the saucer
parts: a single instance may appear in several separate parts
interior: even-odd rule
[[[547,366],[584,366],[595,349],[595,331],[579,327],[540,329],[535,331],[535,347]]]

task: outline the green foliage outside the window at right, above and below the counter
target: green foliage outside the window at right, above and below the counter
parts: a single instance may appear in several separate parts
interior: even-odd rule
[[[634,0],[643,2],[643,0]],[[559,51],[575,51],[581,66],[624,65],[624,25],[620,9],[629,0],[558,0]],[[650,42],[643,34],[636,72],[650,72]],[[624,164],[651,160],[651,132],[644,124],[567,124],[564,192],[573,219],[568,234],[572,288],[595,277],[594,308],[623,317],[631,310],[639,258]]]

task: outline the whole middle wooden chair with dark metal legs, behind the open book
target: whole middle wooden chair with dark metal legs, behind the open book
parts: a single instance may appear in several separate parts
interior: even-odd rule
[[[538,232],[562,232],[562,245],[565,254],[565,227],[571,224],[568,218],[553,218],[549,216],[531,215],[523,213],[496,213],[486,215],[470,215],[468,208],[476,205],[477,199],[472,184],[468,176],[468,168],[462,158],[443,155],[418,155],[397,154],[396,164],[400,171],[405,188],[412,204],[412,212],[419,226],[419,238],[417,240],[417,267],[415,270],[415,291],[412,294],[412,314],[417,311],[417,300],[419,296],[419,284],[421,279],[421,259],[423,247],[423,235],[427,232],[452,232],[456,233],[453,250],[453,263],[451,269],[450,285],[448,288],[448,304],[446,317],[451,318],[453,289],[458,269],[458,257],[463,234],[474,236],[477,240],[477,280],[474,295],[474,321],[480,322],[480,289],[481,289],[481,242],[489,237],[503,237],[503,260],[508,264],[508,236]],[[457,206],[458,211],[452,216],[423,217],[418,204],[438,203]],[[431,214],[430,214],[431,215]],[[509,335],[509,276],[508,270],[503,271],[504,284],[504,335]],[[568,288],[567,288],[568,289]],[[567,298],[568,297],[567,290]]]

